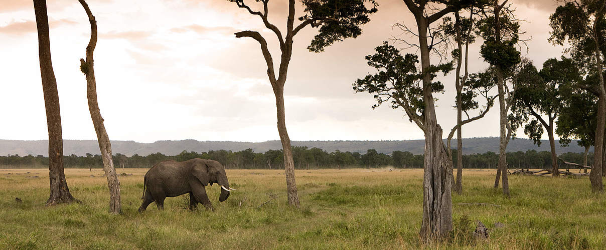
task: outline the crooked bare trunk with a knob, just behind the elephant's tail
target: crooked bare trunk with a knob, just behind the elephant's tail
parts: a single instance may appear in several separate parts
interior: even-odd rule
[[[116,169],[113,165],[112,159],[112,144],[110,138],[107,135],[105,126],[103,124],[103,117],[101,117],[101,111],[99,110],[99,103],[97,101],[97,83],[95,80],[95,68],[93,62],[93,52],[97,45],[97,21],[95,16],[88,8],[88,4],[84,0],[78,0],[86,14],[88,21],[90,22],[90,41],[86,47],[86,60],[80,59],[80,70],[86,75],[87,82],[87,98],[88,98],[88,111],[90,112],[90,118],[93,120],[93,126],[95,126],[95,132],[97,133],[97,141],[99,143],[99,149],[101,150],[101,158],[103,159],[103,170],[105,176],[107,176],[107,186],[110,191],[110,213],[120,214],[120,181],[118,181],[118,175],[116,175]]]

